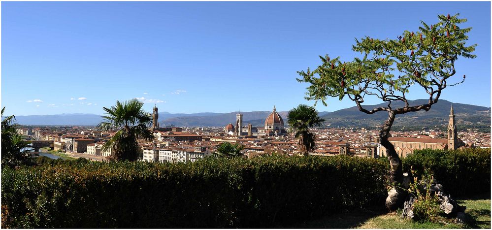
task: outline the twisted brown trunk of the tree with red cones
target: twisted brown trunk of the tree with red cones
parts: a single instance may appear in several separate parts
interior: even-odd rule
[[[395,111],[392,110],[389,112],[388,119],[381,127],[379,138],[381,145],[386,148],[386,154],[388,155],[388,160],[390,161],[390,182],[397,187],[404,188],[405,186],[402,186],[403,170],[401,167],[401,160],[394,150],[394,145],[388,140],[388,138],[390,137],[391,126],[394,122],[394,117]],[[386,199],[386,207],[392,211],[402,206],[406,198],[406,192],[403,189],[397,187],[394,187],[388,193],[388,198]]]

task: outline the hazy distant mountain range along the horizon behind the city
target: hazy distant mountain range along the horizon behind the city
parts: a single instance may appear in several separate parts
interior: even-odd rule
[[[427,100],[419,99],[409,101],[410,105],[423,104]],[[411,112],[396,117],[394,127],[434,127],[446,126],[449,120],[449,111],[453,104],[456,120],[461,127],[481,127],[490,129],[491,108],[470,104],[451,103],[447,100],[439,100],[426,111]],[[386,103],[377,105],[363,105],[368,110],[373,107],[386,106]],[[396,101],[393,107],[401,107],[403,103]],[[229,123],[235,126],[236,114],[230,113],[159,113],[159,124],[161,127],[174,125],[178,127],[203,127],[203,126],[226,126]],[[271,111],[241,112],[243,114],[243,124],[251,123],[253,126],[261,127],[264,125],[266,117]],[[287,125],[287,111],[278,112]],[[356,106],[340,109],[334,112],[320,112],[319,116],[327,120],[326,124],[330,127],[376,127],[380,126],[388,117],[388,113],[381,111],[372,115],[367,115],[359,111]],[[101,122],[101,116],[96,114],[60,114],[60,115],[31,115],[16,116],[17,123],[21,125],[80,125],[95,126]]]

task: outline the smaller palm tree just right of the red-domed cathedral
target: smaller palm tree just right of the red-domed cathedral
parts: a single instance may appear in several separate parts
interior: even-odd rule
[[[313,106],[299,104],[289,111],[287,123],[293,131],[295,138],[299,138],[299,153],[307,156],[309,151],[315,148],[316,136],[309,129],[322,127],[325,119],[318,117],[318,111]]]

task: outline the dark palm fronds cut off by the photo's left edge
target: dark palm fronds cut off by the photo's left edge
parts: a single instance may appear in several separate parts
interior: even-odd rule
[[[1,109],[1,165],[17,166],[26,164],[29,159],[30,141],[25,141],[17,131],[19,124],[15,123],[15,116],[3,116],[5,107]]]

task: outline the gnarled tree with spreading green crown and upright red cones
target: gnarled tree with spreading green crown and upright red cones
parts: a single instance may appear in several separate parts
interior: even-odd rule
[[[368,36],[356,39],[352,49],[360,52],[361,58],[342,62],[340,57],[330,60],[328,55],[320,56],[322,64],[314,71],[308,68],[307,71],[298,72],[302,77],[297,79],[299,82],[311,84],[307,88],[306,99],[321,100],[327,105],[327,97],[341,100],[347,96],[366,114],[388,112],[379,137],[381,145],[387,149],[394,184],[403,181],[401,160],[388,140],[395,116],[428,111],[446,87],[464,82],[465,75],[462,79],[455,77],[458,57],[476,57],[472,54],[476,44],[465,46],[468,40],[466,34],[471,28],[460,28],[459,24],[466,22],[466,19],[458,16],[438,15],[439,22],[433,25],[422,22],[417,32],[404,31],[398,39],[381,40]],[[409,104],[406,95],[410,88],[424,90],[428,101],[425,104]],[[388,105],[366,109],[362,103],[367,96],[377,97],[388,102]],[[392,102],[398,100],[405,105],[393,107]]]

